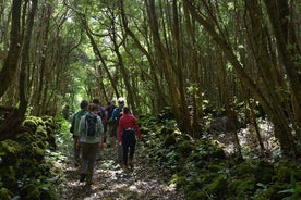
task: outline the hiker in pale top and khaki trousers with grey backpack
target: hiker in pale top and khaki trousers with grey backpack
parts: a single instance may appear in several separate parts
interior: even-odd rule
[[[98,149],[104,149],[104,126],[96,104],[88,105],[88,113],[82,116],[80,122],[79,146],[82,147],[81,177],[80,182],[92,184],[94,165]]]

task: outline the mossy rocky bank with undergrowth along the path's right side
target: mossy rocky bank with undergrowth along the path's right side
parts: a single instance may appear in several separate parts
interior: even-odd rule
[[[218,143],[196,140],[172,128],[172,120],[145,126],[145,153],[153,165],[172,173],[169,184],[182,188],[186,199],[299,199],[301,166],[298,163],[246,160],[237,163]],[[167,115],[168,116],[168,115]],[[147,132],[148,130],[148,132]]]

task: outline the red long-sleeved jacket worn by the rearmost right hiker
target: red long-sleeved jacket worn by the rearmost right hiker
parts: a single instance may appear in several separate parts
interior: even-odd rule
[[[119,120],[118,124],[118,142],[122,142],[122,132],[124,129],[134,129],[139,139],[141,139],[141,134],[137,125],[137,121],[134,115],[132,114],[122,114],[122,116]]]

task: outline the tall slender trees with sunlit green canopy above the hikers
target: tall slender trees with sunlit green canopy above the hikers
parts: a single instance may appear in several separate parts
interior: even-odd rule
[[[12,0],[0,3],[0,103],[19,116],[125,97],[133,113],[172,108],[197,137],[206,112],[254,122],[281,150],[301,143],[301,2]],[[193,112],[190,112],[193,111]]]

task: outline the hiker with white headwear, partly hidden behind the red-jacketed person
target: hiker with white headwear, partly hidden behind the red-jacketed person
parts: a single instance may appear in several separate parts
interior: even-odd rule
[[[120,97],[117,100],[118,107],[115,108],[112,112],[112,116],[110,117],[110,122],[112,123],[112,133],[116,135],[116,138],[118,138],[118,124],[119,124],[119,118],[122,115],[123,112],[123,107],[124,107],[124,98]],[[118,140],[117,140],[118,141]],[[121,145],[117,145],[117,163],[122,166],[122,155],[123,155],[123,148]]]

